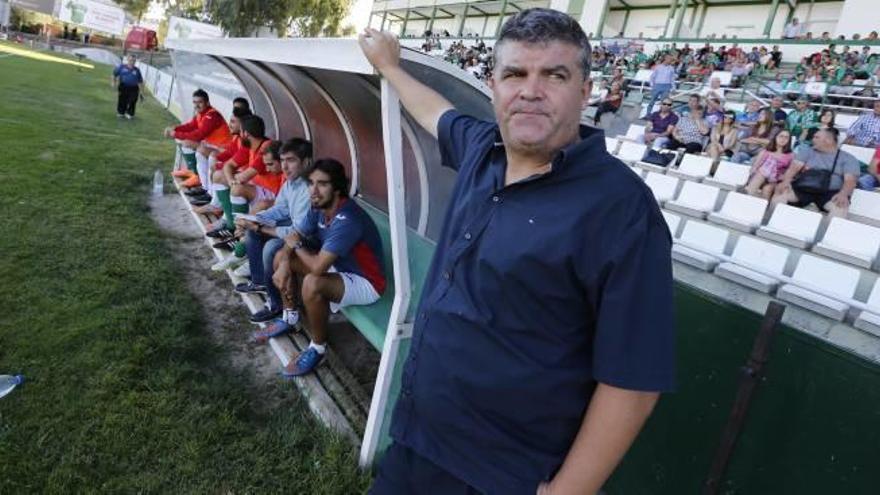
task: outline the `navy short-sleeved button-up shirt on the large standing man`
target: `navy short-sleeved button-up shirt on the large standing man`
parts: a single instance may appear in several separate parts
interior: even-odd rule
[[[494,123],[451,110],[458,170],[392,423],[395,441],[485,493],[533,495],[597,382],[673,386],[671,239],[601,131],[505,187]]]

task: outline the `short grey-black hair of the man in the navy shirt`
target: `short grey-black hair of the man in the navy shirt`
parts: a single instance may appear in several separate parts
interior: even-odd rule
[[[517,13],[504,23],[498,41],[495,42],[494,57],[498,62],[498,47],[506,41],[524,43],[549,43],[559,41],[580,48],[581,69],[584,79],[590,76],[592,49],[586,33],[574,18],[558,10],[534,8]]]

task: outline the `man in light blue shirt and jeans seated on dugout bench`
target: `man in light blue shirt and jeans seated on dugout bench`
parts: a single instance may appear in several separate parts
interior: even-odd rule
[[[250,320],[254,323],[268,322],[283,316],[281,293],[272,283],[275,255],[284,246],[283,239],[294,232],[293,226],[305,219],[311,207],[309,186],[303,175],[312,165],[312,143],[293,138],[281,145],[279,154],[284,185],[275,198],[275,205],[256,214],[257,218],[271,221],[275,226],[241,218],[235,222],[247,231],[245,245],[251,273],[250,282],[236,285],[235,290],[243,294],[266,292],[269,299],[267,307],[251,315]],[[280,330],[284,325],[286,321],[275,325],[274,330]],[[271,337],[274,337],[271,333],[265,335],[265,338]]]

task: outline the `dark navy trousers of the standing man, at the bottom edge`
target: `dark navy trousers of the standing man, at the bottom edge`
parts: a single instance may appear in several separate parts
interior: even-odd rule
[[[370,495],[477,495],[480,492],[397,442],[385,451]]]

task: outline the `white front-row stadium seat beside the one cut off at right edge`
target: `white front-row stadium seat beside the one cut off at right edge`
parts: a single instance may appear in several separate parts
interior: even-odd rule
[[[849,310],[849,303],[822,295],[819,290],[850,300],[855,294],[859,276],[859,271],[851,266],[803,254],[791,277],[794,283],[780,287],[776,297],[842,321]]]

